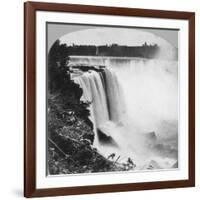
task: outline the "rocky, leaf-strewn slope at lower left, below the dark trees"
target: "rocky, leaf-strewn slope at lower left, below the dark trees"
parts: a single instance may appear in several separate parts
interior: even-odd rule
[[[88,118],[80,118],[76,112],[63,109],[62,102],[55,101],[48,113],[48,172],[76,174],[91,172],[123,171],[127,167],[103,157],[93,147],[93,125]],[[65,111],[63,111],[65,110]]]

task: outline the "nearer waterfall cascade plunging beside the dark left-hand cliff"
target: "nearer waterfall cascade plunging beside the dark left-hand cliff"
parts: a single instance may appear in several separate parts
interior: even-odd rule
[[[73,78],[74,82],[83,89],[83,101],[90,102],[90,119],[94,124],[95,144],[98,145],[97,129],[104,131],[108,122],[122,123],[125,113],[123,92],[115,72],[103,69],[99,72],[89,70]],[[112,136],[106,131],[107,136]]]

